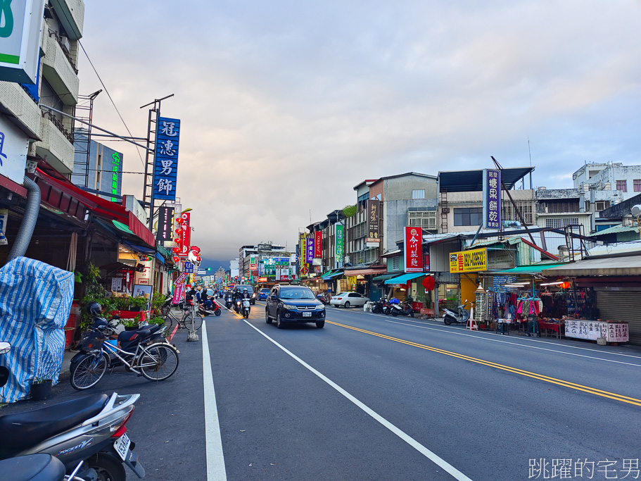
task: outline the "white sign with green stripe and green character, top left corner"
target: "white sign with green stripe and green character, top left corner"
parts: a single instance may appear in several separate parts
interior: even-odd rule
[[[0,80],[34,85],[44,0],[0,1]]]

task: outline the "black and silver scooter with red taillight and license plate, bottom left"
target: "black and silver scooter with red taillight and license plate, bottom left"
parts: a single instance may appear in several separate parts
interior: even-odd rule
[[[63,474],[72,473],[82,462],[75,476],[83,480],[125,481],[125,466],[142,478],[145,470],[132,451],[134,443],[125,426],[139,397],[140,394],[92,394],[34,411],[0,416],[0,460],[13,458],[7,464],[16,469],[20,466],[27,469],[34,466],[32,463],[51,469],[51,477],[37,479],[62,479],[60,465],[49,463],[46,456],[30,461],[13,456],[56,456],[64,465]],[[6,473],[4,467],[2,473]]]

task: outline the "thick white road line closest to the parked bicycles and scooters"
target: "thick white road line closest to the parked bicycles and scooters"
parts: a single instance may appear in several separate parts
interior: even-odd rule
[[[220,423],[218,422],[218,408],[214,377],[209,356],[207,342],[207,325],[203,320],[203,388],[205,391],[205,455],[207,458],[207,481],[226,481],[227,473],[224,469],[224,455],[222,454],[222,439],[220,437]]]

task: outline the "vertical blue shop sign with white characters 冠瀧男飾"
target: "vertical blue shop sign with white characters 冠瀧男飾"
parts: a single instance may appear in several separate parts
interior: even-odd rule
[[[180,120],[177,118],[158,118],[156,164],[153,168],[154,199],[176,200],[179,135]]]

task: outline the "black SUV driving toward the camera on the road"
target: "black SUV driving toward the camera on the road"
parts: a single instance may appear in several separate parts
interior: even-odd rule
[[[274,319],[279,329],[286,323],[316,323],[321,329],[325,325],[325,306],[309,287],[277,285],[269,292],[265,307],[267,324]]]

